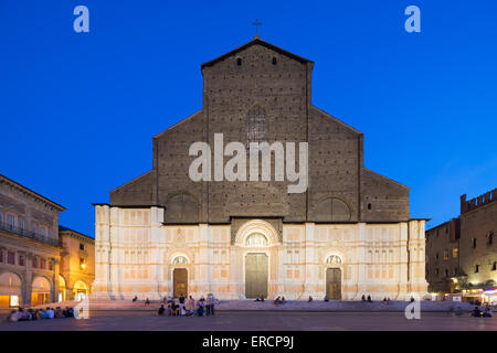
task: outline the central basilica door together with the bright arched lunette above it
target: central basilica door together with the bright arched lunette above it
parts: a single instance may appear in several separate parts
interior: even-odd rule
[[[256,253],[255,248],[264,248],[268,245],[267,238],[261,233],[253,233],[245,239],[245,246],[254,248],[245,255],[245,297],[267,298],[267,281],[269,259],[266,253]]]

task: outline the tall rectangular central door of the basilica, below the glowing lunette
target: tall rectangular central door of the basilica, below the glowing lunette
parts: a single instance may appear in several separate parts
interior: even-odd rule
[[[267,298],[268,257],[256,253],[245,256],[245,297],[247,299],[264,296]]]

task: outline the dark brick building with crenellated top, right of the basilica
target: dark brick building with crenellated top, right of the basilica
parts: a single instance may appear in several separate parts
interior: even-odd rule
[[[461,215],[426,231],[429,290],[495,301],[496,232],[497,189],[469,201],[462,195]]]

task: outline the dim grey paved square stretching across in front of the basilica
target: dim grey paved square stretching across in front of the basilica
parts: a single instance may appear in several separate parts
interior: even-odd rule
[[[426,312],[408,320],[403,312],[220,311],[214,317],[159,317],[155,311],[94,311],[88,320],[2,322],[0,331],[331,331],[331,330],[497,330],[497,318]]]

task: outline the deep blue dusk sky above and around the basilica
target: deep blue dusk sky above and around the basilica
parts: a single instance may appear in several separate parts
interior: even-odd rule
[[[89,33],[73,30],[89,9]],[[404,9],[421,9],[421,33]],[[261,38],[313,60],[313,103],[364,133],[364,165],[427,227],[497,188],[497,1],[0,1],[0,173],[64,205],[151,169],[151,137],[202,107],[200,64]]]

